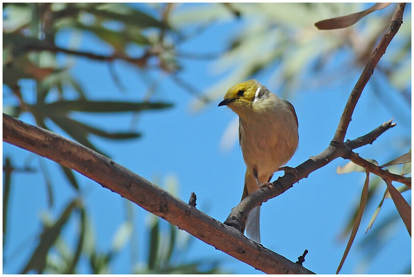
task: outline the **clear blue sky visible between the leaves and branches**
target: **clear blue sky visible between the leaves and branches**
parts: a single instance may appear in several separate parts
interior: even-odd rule
[[[186,5],[183,6],[185,8]],[[410,8],[411,6],[408,5],[406,16],[410,16]],[[200,36],[183,44],[181,49],[197,53],[223,51],[229,37],[241,30],[243,23],[242,21],[214,23]],[[71,33],[68,31],[61,32],[57,37],[57,43],[66,46],[70,36]],[[80,49],[103,54],[108,54],[110,50],[108,46],[90,35],[82,36]],[[338,54],[338,57],[346,59],[348,54],[343,51]],[[59,61],[65,64],[65,56],[59,55]],[[223,75],[212,73],[211,61],[182,60],[182,62],[184,70],[180,76],[202,91],[223,78]],[[124,93],[119,91],[111,79],[108,66],[101,62],[78,58],[71,72],[81,82],[87,96],[91,99],[142,99],[146,91],[142,72],[120,61],[114,62],[114,67],[122,84],[127,88]],[[288,99],[297,113],[300,144],[287,165],[296,166],[327,147],[360,72],[361,69],[348,72],[347,77],[340,78],[329,87],[317,89],[302,87]],[[309,77],[313,73],[307,70],[304,74]],[[270,71],[265,70],[255,75],[255,79],[267,85],[269,76]],[[159,74],[152,71],[150,77],[156,80]],[[374,78],[378,78],[375,73]],[[380,78],[378,81],[383,86],[389,86]],[[22,82],[21,86],[30,98],[30,95],[33,95],[31,93],[33,84]],[[275,88],[269,86],[269,89]],[[397,157],[390,156],[390,153],[398,155],[397,151],[403,149],[404,152],[399,153],[401,155],[408,150],[409,145],[405,148],[398,147],[398,143],[402,142],[396,142],[394,140],[396,136],[411,138],[410,107],[399,98],[399,94],[392,87],[388,89],[390,95],[393,95],[392,105],[398,108],[388,109],[376,97],[373,86],[367,85],[355,109],[346,136],[346,139],[354,139],[394,117],[394,122],[397,123],[395,128],[385,132],[373,145],[364,146],[357,151],[362,157],[376,159],[380,164]],[[223,95],[224,93],[225,91]],[[12,97],[7,97],[7,91],[3,100],[4,105],[13,102]],[[99,138],[91,140],[98,148],[104,149],[114,161],[150,181],[160,180],[160,185],[163,185],[166,178],[175,178],[178,183],[177,197],[187,202],[190,193],[194,191],[197,194],[197,208],[219,221],[224,221],[231,209],[239,203],[243,189],[245,165],[240,147],[235,145],[228,151],[220,148],[223,132],[236,115],[227,108],[217,108],[219,99],[199,112],[192,112],[190,106],[194,97],[166,77],[158,86],[152,100],[171,102],[174,107],[160,112],[143,113],[136,125],[136,130],[144,134],[141,139],[123,142]],[[75,118],[98,126],[104,125],[108,131],[120,131],[129,128],[132,116],[131,114],[87,116],[75,114]],[[34,123],[33,118],[27,114],[20,119]],[[65,135],[61,130],[56,130]],[[388,147],[392,151],[389,151]],[[38,163],[38,158],[33,154],[3,143],[3,157],[6,155],[11,155],[19,165],[22,165],[28,157],[33,159],[33,165]],[[48,160],[44,162],[48,165],[54,184],[57,205],[52,214],[58,215],[76,194],[64,183],[66,181],[62,181],[58,166]],[[292,261],[296,261],[304,249],[308,249],[305,267],[317,273],[334,273],[348,239],[339,241],[337,237],[352,208],[359,202],[365,175],[360,172],[338,175],[337,166],[346,163],[347,161],[341,159],[334,160],[324,168],[311,173],[307,179],[301,180],[282,195],[264,203],[261,214],[262,244]],[[82,194],[85,195],[87,212],[91,215],[97,232],[98,248],[108,249],[114,233],[125,219],[125,200],[80,174],[77,174],[77,177]],[[278,175],[275,174],[273,180],[277,177]],[[40,232],[39,216],[48,209],[43,183],[41,173],[13,175],[9,209],[10,237],[9,244],[4,249],[4,256],[10,257],[16,248],[21,247],[19,245],[25,247],[17,251],[14,257],[10,257],[7,266],[3,267],[4,273],[16,273],[18,266],[27,261],[36,245],[35,234]],[[343,265],[342,273],[356,273],[355,268],[364,257],[358,243],[362,240],[365,226],[382,197],[385,184],[381,186],[383,189],[374,196],[377,199],[374,205],[366,207],[360,230]],[[134,210],[139,230],[139,248],[142,250],[147,243],[143,236],[143,224],[148,224],[148,213],[140,207],[135,207]],[[376,223],[393,213],[396,213],[395,207],[390,199],[386,199]],[[71,228],[73,231],[73,226]],[[402,220],[397,220],[393,228],[395,233],[392,233],[389,242],[363,272],[401,273],[396,269],[403,269],[409,264],[411,241]],[[68,240],[73,240],[71,230],[65,230],[64,233]],[[201,258],[219,259],[223,261],[222,267],[229,272],[260,273],[198,239],[193,240],[190,252],[185,257],[189,261]],[[111,273],[130,272],[129,253],[130,246],[127,245],[113,261]],[[146,253],[142,250],[139,258],[143,260],[145,257]],[[82,268],[85,267],[86,261],[82,261]]]

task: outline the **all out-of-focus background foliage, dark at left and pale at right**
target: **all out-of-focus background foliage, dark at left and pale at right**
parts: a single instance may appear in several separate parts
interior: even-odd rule
[[[75,114],[87,118],[92,113],[141,114],[144,111],[158,112],[172,107],[171,103],[151,101],[150,88],[142,91],[139,102],[122,102],[110,99],[90,99],[89,92],[75,78],[71,71],[74,57],[86,58],[109,63],[113,82],[119,90],[123,85],[119,80],[112,62],[124,61],[136,70],[145,72],[155,69],[171,77],[177,86],[188,91],[196,98],[192,107],[198,110],[222,96],[229,86],[240,81],[254,78],[263,72],[271,72],[269,88],[280,96],[292,97],[303,88],[329,86],[341,78],[343,82],[353,83],[352,73],[360,72],[369,59],[373,47],[386,29],[394,5],[380,12],[363,17],[354,26],[333,31],[318,31],[314,23],[327,18],[342,16],[363,10],[362,4],[341,3],[210,3],[190,6],[176,11],[180,4],[146,5],[140,10],[128,4],[120,3],[4,3],[3,4],[3,87],[14,99],[13,105],[4,106],[5,113],[14,117],[31,114],[36,124],[47,130],[63,131],[79,143],[108,156],[103,150],[90,141],[91,136],[110,139],[112,141],[138,139],[143,134],[130,130],[105,130],[104,124],[93,126],[75,119]],[[407,11],[405,13],[407,15]],[[239,32],[228,38],[227,48],[221,55],[182,53],[179,45],[201,33],[216,22],[239,20],[242,27]],[[88,34],[106,45],[109,51],[100,54],[77,49],[76,43],[58,45],[56,36],[59,32],[73,31],[73,41],[79,35]],[[191,32],[188,32],[190,30]],[[406,104],[411,105],[411,17],[404,16],[404,24],[387,49],[381,63],[376,67],[376,75],[386,79],[390,85],[403,96]],[[131,50],[133,49],[133,50]],[[345,52],[351,59],[341,59]],[[109,53],[109,54],[108,54]],[[58,61],[58,55],[65,54],[66,63]],[[202,94],[197,86],[177,75],[183,67],[181,59],[214,60],[215,73],[222,80],[205,89],[209,93]],[[336,64],[336,68],[332,64]],[[312,72],[304,74],[304,72]],[[34,84],[32,94],[21,90],[21,82],[30,80]],[[371,83],[376,85],[375,78]],[[389,97],[382,86],[375,90],[378,98],[387,107]],[[140,91],[141,92],[141,91]],[[4,92],[7,93],[7,92]],[[29,95],[30,94],[30,95]],[[34,95],[34,97],[32,97]],[[236,122],[237,123],[237,122]],[[57,129],[58,127],[59,129]],[[226,137],[235,137],[237,132],[233,122],[225,132]],[[410,138],[409,138],[410,140]],[[231,147],[233,143],[224,143]],[[405,150],[406,151],[406,150]],[[405,152],[404,151],[404,152]],[[402,153],[400,153],[401,155]],[[400,155],[394,155],[394,158]],[[393,159],[394,159],[393,158]],[[407,159],[402,165],[396,165],[390,159],[387,167],[390,171],[399,170],[398,174],[410,174],[411,162]],[[374,160],[372,160],[374,161]],[[401,163],[400,163],[401,164]],[[385,165],[384,165],[385,166]],[[401,168],[400,168],[401,167]],[[90,273],[110,273],[110,264],[120,250],[131,241],[137,246],[133,209],[127,209],[127,219],[119,226],[112,239],[111,248],[102,252],[95,245],[95,231],[91,226],[91,218],[84,208],[81,191],[73,171],[61,167],[62,176],[79,196],[67,204],[56,220],[51,216],[42,218],[43,230],[40,233],[37,247],[21,272],[36,273],[83,273],[79,270],[82,259],[87,260]],[[7,219],[9,211],[10,191],[13,189],[12,175],[19,172],[33,172],[28,166],[16,167],[11,157],[4,158],[3,182],[3,247],[7,244]],[[53,180],[49,178],[48,168],[39,162],[39,171],[43,173],[48,192],[49,209],[56,207],[53,197]],[[355,165],[342,167],[342,172],[362,171]],[[384,202],[389,198],[387,190],[379,204],[374,202],[374,195],[385,186],[379,178],[370,178],[366,192],[366,207],[377,205],[367,230],[372,230],[360,244],[366,256],[361,267],[379,253],[389,240],[399,218],[377,218]],[[400,193],[408,188],[397,188]],[[59,204],[60,207],[60,204]],[[341,238],[351,232],[359,205],[351,211]],[[78,232],[74,247],[62,236],[62,230],[76,218]],[[219,273],[219,262],[215,260],[198,260],[183,262],[189,244],[180,245],[175,226],[166,224],[157,217],[150,216],[147,229],[147,260],[142,263],[133,262],[132,273]],[[376,221],[380,221],[379,223]],[[390,231],[391,230],[391,231]],[[384,235],[385,234],[385,235]],[[131,247],[132,247],[131,246]],[[132,248],[133,248],[132,247]],[[131,256],[136,253],[131,250]],[[4,260],[7,262],[7,257]],[[5,264],[4,263],[4,264]]]

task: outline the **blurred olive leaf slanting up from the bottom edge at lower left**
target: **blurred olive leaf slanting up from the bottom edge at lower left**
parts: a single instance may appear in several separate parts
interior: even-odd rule
[[[40,241],[36,249],[33,252],[29,262],[26,264],[21,274],[27,273],[29,270],[34,269],[38,274],[43,273],[46,264],[46,258],[50,248],[59,237],[67,220],[71,216],[73,210],[81,206],[80,199],[74,199],[60,215],[59,219],[53,223],[52,226],[44,226],[43,232],[40,235]]]

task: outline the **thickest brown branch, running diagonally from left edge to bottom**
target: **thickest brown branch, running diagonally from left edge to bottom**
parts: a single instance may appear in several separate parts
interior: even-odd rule
[[[62,136],[3,114],[3,141],[75,169],[196,238],[270,274],[312,271],[247,239],[127,168]]]

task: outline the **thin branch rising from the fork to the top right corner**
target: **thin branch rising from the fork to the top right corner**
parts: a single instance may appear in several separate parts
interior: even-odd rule
[[[370,60],[366,64],[364,70],[361,73],[357,83],[352,89],[351,95],[348,99],[348,102],[343,109],[342,116],[339,120],[338,128],[336,129],[334,140],[337,142],[342,142],[347,133],[349,123],[351,122],[351,117],[354,112],[355,106],[358,102],[359,97],[361,96],[362,90],[364,89],[366,83],[371,78],[371,75],[374,73],[374,68],[381,59],[382,55],[385,54],[385,50],[394,38],[395,34],[400,29],[402,24],[402,16],[404,13],[405,3],[398,3],[394,11],[393,18],[389,23],[388,29],[385,34],[382,35],[380,41],[378,42],[377,47],[375,48],[373,54],[371,55]]]

